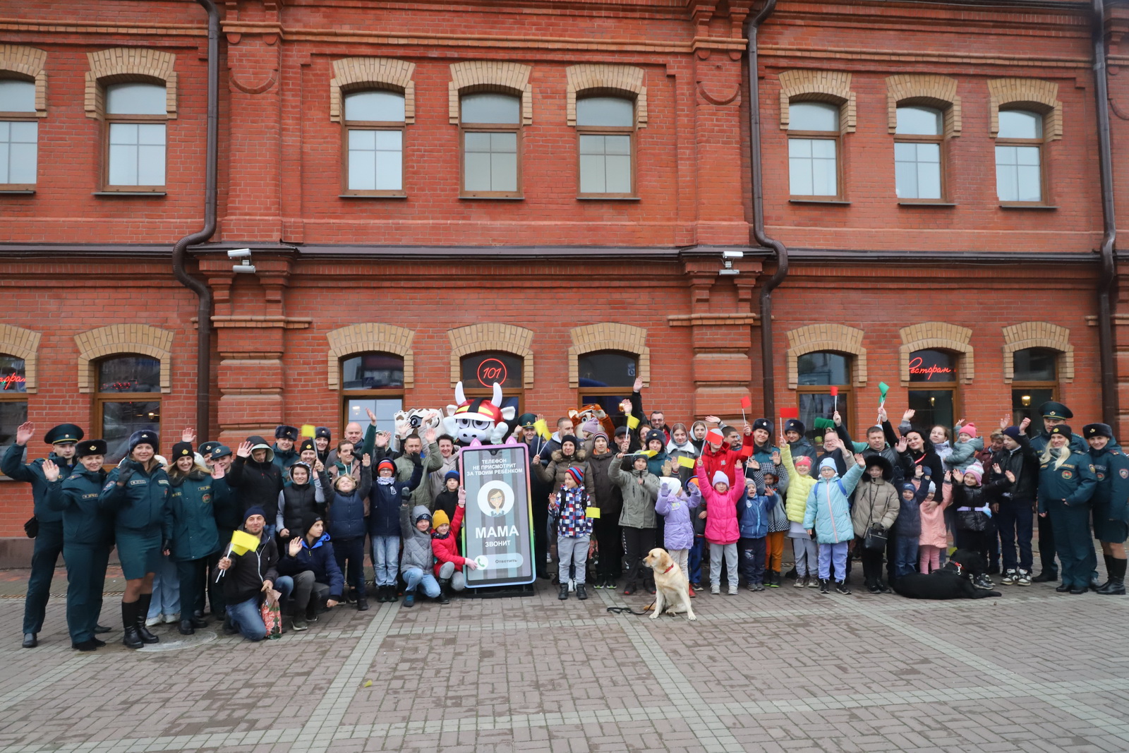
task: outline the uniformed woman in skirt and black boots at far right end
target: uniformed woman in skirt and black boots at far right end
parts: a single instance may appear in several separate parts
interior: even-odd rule
[[[1091,500],[1094,537],[1102,544],[1109,579],[1097,588],[1103,596],[1126,593],[1126,539],[1129,539],[1129,455],[1108,423],[1087,423],[1082,436],[1089,444],[1097,489]]]

